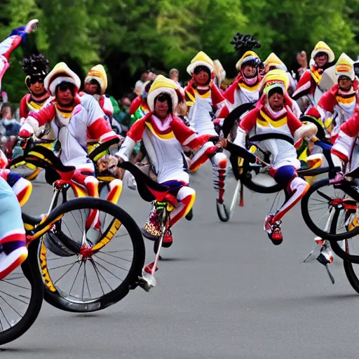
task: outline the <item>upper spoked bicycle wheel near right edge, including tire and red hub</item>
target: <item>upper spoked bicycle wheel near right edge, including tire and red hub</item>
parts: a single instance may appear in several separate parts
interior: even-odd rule
[[[341,230],[332,233],[331,223],[335,213],[346,208],[347,195],[339,187],[322,179],[314,183],[302,198],[302,215],[306,225],[321,238],[341,241],[358,235],[359,227],[349,231],[342,224]]]

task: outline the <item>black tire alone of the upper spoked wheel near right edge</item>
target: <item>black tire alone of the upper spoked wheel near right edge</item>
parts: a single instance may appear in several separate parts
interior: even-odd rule
[[[316,234],[316,236],[319,236],[323,239],[327,239],[328,241],[343,241],[344,239],[348,239],[348,238],[357,236],[359,234],[359,226],[356,227],[355,229],[353,229],[352,231],[346,231],[344,233],[328,233],[328,232],[320,229],[318,226],[316,226],[316,224],[311,219],[311,216],[309,215],[309,210],[308,210],[309,198],[315,191],[317,191],[317,189],[320,189],[320,187],[326,187],[328,185],[330,185],[329,179],[321,179],[320,181],[315,182],[309,188],[309,190],[306,192],[304,197],[302,198],[301,210],[302,210],[302,216],[303,216],[304,222],[309,227],[309,229],[314,234]]]

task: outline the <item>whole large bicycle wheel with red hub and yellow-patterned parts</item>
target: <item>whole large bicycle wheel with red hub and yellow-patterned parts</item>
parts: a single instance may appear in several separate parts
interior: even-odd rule
[[[98,211],[99,230],[86,229],[90,210]],[[38,246],[46,302],[64,311],[99,311],[137,286],[144,266],[144,242],[124,210],[86,197],[63,203],[50,217],[49,221],[61,219]]]

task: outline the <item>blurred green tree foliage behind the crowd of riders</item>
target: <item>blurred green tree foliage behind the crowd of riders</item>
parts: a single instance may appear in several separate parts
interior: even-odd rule
[[[108,92],[121,95],[141,71],[180,70],[182,79],[199,50],[219,59],[229,76],[238,60],[233,34],[255,35],[264,58],[275,52],[297,69],[295,55],[323,40],[338,57],[356,60],[359,48],[359,0],[2,0],[0,39],[11,29],[39,18],[40,27],[15,50],[3,81],[13,102],[27,92],[22,57],[41,52],[50,65],[66,61],[81,77],[97,63],[105,65]]]

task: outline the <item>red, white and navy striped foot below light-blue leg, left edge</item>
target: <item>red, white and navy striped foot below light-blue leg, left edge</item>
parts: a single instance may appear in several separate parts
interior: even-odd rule
[[[9,242],[0,246],[0,280],[8,276],[26,259],[25,241]]]

